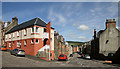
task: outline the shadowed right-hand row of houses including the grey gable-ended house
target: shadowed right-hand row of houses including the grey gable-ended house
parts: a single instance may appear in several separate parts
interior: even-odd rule
[[[120,31],[116,28],[115,19],[107,19],[106,28],[96,32],[94,29],[94,38],[87,44],[86,54],[90,54],[93,59],[108,59],[110,56],[114,59],[120,58]]]

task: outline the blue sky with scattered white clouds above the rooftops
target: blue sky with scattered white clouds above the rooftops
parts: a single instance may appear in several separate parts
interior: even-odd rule
[[[65,40],[89,41],[93,30],[105,29],[105,21],[118,19],[117,2],[3,2],[2,20],[18,17],[19,24],[35,17],[52,22]]]

